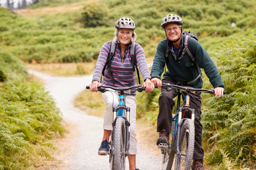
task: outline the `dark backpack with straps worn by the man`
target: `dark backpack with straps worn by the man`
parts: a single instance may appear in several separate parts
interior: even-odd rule
[[[183,47],[184,47],[184,48],[183,48],[183,50],[182,50],[182,56],[179,57],[179,59],[181,59],[181,58],[184,56],[184,54],[187,52],[187,54],[189,55],[189,57],[191,58],[191,60],[192,60],[193,62],[195,62],[196,66],[197,66],[197,69],[198,69],[198,71],[199,71],[199,73],[200,73],[200,75],[197,76],[197,78],[195,78],[195,79],[192,80],[192,81],[187,82],[187,85],[188,85],[188,84],[191,84],[192,82],[195,82],[199,77],[203,77],[203,76],[202,76],[201,68],[199,67],[199,65],[198,65],[198,63],[197,63],[196,58],[195,58],[195,57],[192,55],[192,53],[189,51],[189,47],[188,47],[189,39],[190,39],[191,37],[198,41],[197,35],[196,35],[195,33],[190,32],[190,31],[189,31],[189,32],[184,31],[182,34],[185,35],[185,37],[184,37],[184,42],[183,42]],[[165,46],[165,49],[164,49],[164,51],[165,51],[165,62],[166,62],[167,57],[169,56],[169,53],[170,53],[170,50],[169,50],[169,48],[168,48],[168,44],[169,44],[169,40],[168,40],[168,38],[167,38],[167,43],[166,43],[166,46]],[[166,69],[165,69],[165,66],[164,66],[164,70],[166,70]]]

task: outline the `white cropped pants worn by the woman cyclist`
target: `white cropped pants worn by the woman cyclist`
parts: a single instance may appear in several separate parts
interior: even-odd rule
[[[119,104],[119,96],[117,92],[106,91],[101,93],[106,103],[106,110],[104,114],[103,129],[113,130],[113,107]],[[130,107],[130,149],[129,155],[136,155],[137,153],[137,139],[136,139],[136,98],[133,95],[125,96],[125,106]],[[125,111],[126,112],[126,111]]]

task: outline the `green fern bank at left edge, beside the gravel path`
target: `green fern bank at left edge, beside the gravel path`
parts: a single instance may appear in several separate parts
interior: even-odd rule
[[[28,82],[23,63],[0,52],[0,169],[32,170],[32,160],[51,158],[47,140],[62,135],[60,111],[44,87]]]

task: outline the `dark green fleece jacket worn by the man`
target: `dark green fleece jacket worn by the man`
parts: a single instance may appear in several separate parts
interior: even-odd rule
[[[178,57],[181,57],[183,50],[184,35],[182,35],[181,46],[179,50]],[[161,74],[164,71],[165,65],[165,46],[167,43],[167,38],[161,40],[156,48],[156,55],[154,57],[153,66],[151,69],[151,78],[157,77],[161,79]],[[200,68],[205,70],[205,74],[209,78],[212,86],[224,87],[220,73],[218,72],[215,64],[213,63],[210,55],[206,52],[204,47],[195,40],[194,38],[189,39],[188,47],[192,55],[196,58]],[[180,60],[175,60],[172,55],[172,43],[169,43],[169,56],[166,60],[166,66],[168,71],[164,74],[164,77],[169,78],[173,82],[177,81],[189,82],[194,80],[200,73],[197,69],[195,62],[191,60],[187,52],[184,54],[183,58]],[[202,79],[199,77],[195,82],[189,84],[188,86],[194,88],[202,88]]]

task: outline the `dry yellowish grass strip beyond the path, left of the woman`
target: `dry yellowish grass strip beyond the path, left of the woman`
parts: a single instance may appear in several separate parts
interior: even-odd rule
[[[35,60],[32,64],[26,64],[29,70],[44,72],[54,76],[80,76],[90,75],[96,65],[96,60],[93,62],[78,62],[78,63],[52,63],[38,64]]]

